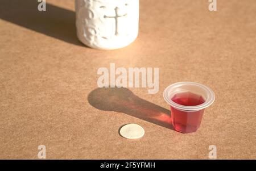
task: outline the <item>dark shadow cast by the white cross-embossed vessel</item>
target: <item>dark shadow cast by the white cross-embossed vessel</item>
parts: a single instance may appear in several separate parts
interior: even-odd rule
[[[0,19],[55,37],[67,43],[84,46],[76,36],[76,14],[46,3],[46,11],[38,10],[36,0],[1,0]]]

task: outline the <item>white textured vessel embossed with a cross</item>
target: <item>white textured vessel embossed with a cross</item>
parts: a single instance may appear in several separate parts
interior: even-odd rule
[[[76,27],[89,47],[125,47],[138,36],[139,0],[76,0]]]

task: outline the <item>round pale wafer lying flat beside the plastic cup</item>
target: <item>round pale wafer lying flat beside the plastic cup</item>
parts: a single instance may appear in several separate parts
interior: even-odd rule
[[[135,123],[126,124],[119,131],[119,134],[127,139],[138,139],[142,137],[144,133],[144,129]]]

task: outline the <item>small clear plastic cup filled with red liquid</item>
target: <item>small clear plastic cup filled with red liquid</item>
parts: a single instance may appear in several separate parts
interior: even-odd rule
[[[201,124],[204,109],[212,105],[213,91],[196,82],[177,82],[163,92],[164,100],[171,106],[172,126],[176,131],[195,132]]]

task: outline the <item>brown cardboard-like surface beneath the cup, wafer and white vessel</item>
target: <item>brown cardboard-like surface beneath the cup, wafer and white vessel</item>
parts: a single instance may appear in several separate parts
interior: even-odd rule
[[[74,1],[0,1],[0,159],[256,159],[256,3],[141,0],[138,39],[98,51],[76,37]],[[159,67],[159,92],[97,89],[97,70]],[[163,90],[193,81],[216,101],[199,130],[171,127]],[[164,119],[163,119],[164,118]],[[139,140],[118,134],[127,123]]]

